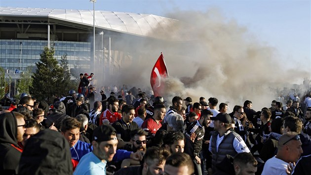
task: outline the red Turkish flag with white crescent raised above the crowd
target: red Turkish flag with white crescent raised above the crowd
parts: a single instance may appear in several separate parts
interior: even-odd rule
[[[164,81],[163,78],[168,77],[168,72],[166,69],[165,61],[163,58],[163,54],[156,60],[156,64],[151,72],[150,84],[152,89],[154,90],[155,97],[163,94],[164,90]]]

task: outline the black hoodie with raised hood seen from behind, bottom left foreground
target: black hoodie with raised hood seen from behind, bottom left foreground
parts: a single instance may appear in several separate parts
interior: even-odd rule
[[[31,136],[19,163],[19,175],[72,175],[69,143],[57,131],[45,129]]]

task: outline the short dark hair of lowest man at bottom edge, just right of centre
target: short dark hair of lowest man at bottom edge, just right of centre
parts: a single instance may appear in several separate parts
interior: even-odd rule
[[[188,167],[187,175],[192,175],[194,173],[194,163],[191,157],[186,153],[174,153],[170,155],[165,162],[165,166],[170,165],[172,167]]]

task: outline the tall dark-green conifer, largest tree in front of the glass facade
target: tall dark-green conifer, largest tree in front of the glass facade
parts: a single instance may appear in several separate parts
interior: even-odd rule
[[[38,100],[46,100],[53,102],[53,96],[59,96],[64,93],[61,84],[64,79],[64,70],[58,65],[58,61],[54,58],[54,48],[44,47],[40,54],[40,60],[36,63],[37,70],[33,74],[33,83],[30,88]]]

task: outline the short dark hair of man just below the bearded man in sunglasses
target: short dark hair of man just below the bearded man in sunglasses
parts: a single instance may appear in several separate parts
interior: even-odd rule
[[[146,150],[144,162],[147,163],[147,165],[151,165],[156,159],[158,164],[161,164],[170,154],[169,150],[164,147],[153,146]]]

